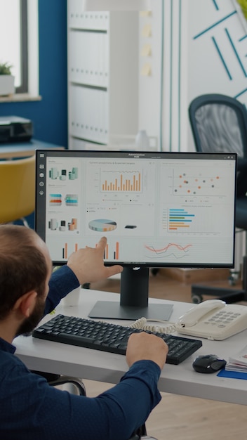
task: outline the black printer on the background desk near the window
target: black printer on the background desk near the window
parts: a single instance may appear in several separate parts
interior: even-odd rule
[[[32,134],[30,119],[18,116],[0,117],[0,143],[30,141]]]

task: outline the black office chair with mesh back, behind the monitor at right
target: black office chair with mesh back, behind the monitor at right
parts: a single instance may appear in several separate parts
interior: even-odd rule
[[[196,151],[237,153],[236,228],[247,230],[247,110],[235,98],[211,93],[194,98],[189,105],[189,122]],[[225,302],[247,299],[247,257],[243,257],[241,290],[192,285],[192,302],[203,295],[218,296]],[[231,279],[231,277],[230,277]]]

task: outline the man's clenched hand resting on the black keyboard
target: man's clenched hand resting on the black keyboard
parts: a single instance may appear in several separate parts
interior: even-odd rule
[[[157,363],[162,370],[167,354],[168,346],[159,336],[140,332],[133,333],[128,339],[126,361],[129,367],[136,361],[146,359]]]

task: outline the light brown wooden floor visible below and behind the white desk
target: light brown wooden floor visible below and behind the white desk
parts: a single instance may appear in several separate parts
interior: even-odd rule
[[[210,274],[209,274],[210,275]],[[220,276],[189,273],[176,280],[163,273],[149,277],[149,296],[173,301],[191,302],[191,282],[229,287],[225,271]],[[201,277],[201,278],[200,278]],[[213,279],[212,278],[216,278]],[[222,278],[222,279],[221,279]],[[208,281],[209,280],[209,281]],[[92,289],[119,292],[119,280],[109,279],[91,285]],[[240,286],[240,282],[237,287]],[[235,286],[236,287],[236,286]],[[210,297],[205,297],[209,299]],[[244,304],[244,303],[243,303]],[[166,367],[165,367],[166,368]],[[84,381],[88,396],[98,395],[112,384]],[[159,440],[232,440],[247,439],[246,413],[243,405],[161,393],[162,400],[147,420],[147,432]],[[117,439],[116,439],[117,440]]]

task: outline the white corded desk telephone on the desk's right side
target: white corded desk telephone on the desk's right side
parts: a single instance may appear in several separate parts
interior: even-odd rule
[[[208,299],[180,316],[177,324],[183,335],[220,341],[247,329],[247,307]]]

